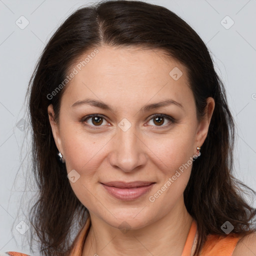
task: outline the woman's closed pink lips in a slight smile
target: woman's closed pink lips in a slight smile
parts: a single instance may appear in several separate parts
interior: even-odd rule
[[[111,181],[101,183],[113,197],[121,200],[135,200],[152,189],[155,182],[151,181]]]

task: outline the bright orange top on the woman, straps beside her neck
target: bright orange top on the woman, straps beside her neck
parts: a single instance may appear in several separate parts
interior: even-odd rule
[[[83,244],[85,242],[85,238],[88,234],[89,227],[90,227],[90,216],[88,216],[84,226],[80,230],[80,232],[77,234],[74,242],[73,242],[73,248],[71,249],[71,252],[69,256],[81,256]],[[231,256],[232,252],[236,246],[236,243],[239,240],[238,234],[228,234],[228,235],[213,235],[209,234],[207,236],[207,239],[205,243],[203,244],[203,247],[197,256]],[[193,220],[191,227],[189,229],[185,246],[183,248],[183,252],[181,256],[190,256],[193,254],[195,250],[197,242],[197,225],[196,221]]]

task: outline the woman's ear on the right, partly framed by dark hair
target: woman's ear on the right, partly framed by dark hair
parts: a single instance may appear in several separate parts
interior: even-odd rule
[[[208,133],[208,128],[214,110],[215,102],[212,97],[208,97],[206,99],[206,102],[207,105],[205,107],[205,114],[197,126],[194,148],[196,148],[196,146],[201,146],[203,144]]]

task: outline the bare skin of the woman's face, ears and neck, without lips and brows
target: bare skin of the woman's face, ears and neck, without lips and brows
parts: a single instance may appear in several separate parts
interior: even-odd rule
[[[91,217],[82,255],[181,255],[192,221],[183,200],[192,165],[154,202],[148,197],[203,144],[214,100],[207,99],[205,116],[198,121],[187,72],[178,61],[164,57],[160,50],[110,46],[98,50],[65,88],[58,123],[53,120],[52,106],[48,107],[67,173],[75,169],[80,175],[70,185]],[[169,75],[174,67],[183,73],[178,80]],[[88,97],[103,101],[112,111],[88,104],[72,106]],[[169,104],[139,111],[165,99],[182,107]],[[97,125],[93,118],[82,123],[82,117],[89,114],[103,115],[101,126],[91,128]],[[164,118],[157,124],[152,114],[166,114],[176,121]],[[123,118],[131,124],[126,131],[118,127]],[[141,197],[124,201],[112,197],[99,183],[113,180],[156,183]],[[118,228],[123,221],[130,227],[126,233]]]

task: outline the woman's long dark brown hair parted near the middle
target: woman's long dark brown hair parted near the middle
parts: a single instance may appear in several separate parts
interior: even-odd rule
[[[74,220],[80,228],[88,213],[71,189],[65,164],[56,158],[58,150],[48,120],[49,104],[58,120],[65,87],[54,96],[47,95],[61,84],[77,58],[103,44],[161,49],[180,61],[187,68],[198,119],[204,115],[206,98],[214,98],[215,109],[201,156],[193,162],[184,191],[187,211],[197,221],[196,252],[208,234],[225,235],[220,227],[226,220],[234,226],[231,233],[253,232],[256,212],[243,198],[248,187],[232,176],[233,119],[206,45],[184,20],[164,7],[141,1],[103,1],[76,10],[59,26],[29,82],[33,171],[38,186],[30,221],[43,255],[67,255]]]

